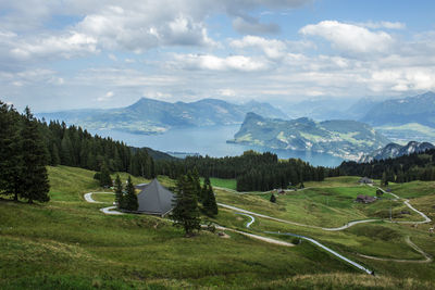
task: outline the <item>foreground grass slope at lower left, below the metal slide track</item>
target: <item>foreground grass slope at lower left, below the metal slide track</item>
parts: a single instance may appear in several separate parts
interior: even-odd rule
[[[256,289],[294,285],[286,279],[295,275],[357,273],[309,243],[277,247],[232,232],[185,238],[159,217],[105,216],[83,200],[101,190],[94,174],[50,167],[49,203],[0,201],[1,289]]]

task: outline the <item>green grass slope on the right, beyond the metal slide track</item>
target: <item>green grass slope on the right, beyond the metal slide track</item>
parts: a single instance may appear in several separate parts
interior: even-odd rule
[[[376,201],[373,204],[356,204],[353,199],[356,194],[375,194],[375,189],[370,187],[357,186],[353,177],[327,178],[325,182],[312,182],[312,188],[302,191],[291,192],[286,196],[277,196],[277,202],[271,203],[269,194],[238,194],[227,191],[217,191],[217,201],[229,203],[257,213],[270,216],[306,223],[308,225],[318,225],[323,227],[339,226],[344,220],[362,218],[381,218],[389,216],[389,206],[391,206],[394,220],[421,220],[421,216],[411,213],[402,214],[408,210],[402,201],[394,201],[385,194],[384,200]],[[435,192],[431,191],[435,182],[414,182],[406,184],[403,192],[412,189],[415,197],[411,204],[422,210],[430,217],[435,217]],[[399,189],[399,186],[396,187]],[[398,190],[401,192],[401,190]],[[221,216],[223,217],[223,216]],[[231,222],[228,224],[237,226],[241,222]],[[247,222],[245,218],[243,222]],[[433,225],[432,225],[433,226]],[[322,231],[319,229],[294,226],[277,223],[264,218],[256,218],[251,226],[253,232],[264,230],[293,232],[314,238],[332,249],[344,253],[346,256],[363,265],[368,265],[377,274],[395,276],[397,279],[407,277],[409,279],[434,281],[434,263],[391,263],[387,261],[374,261],[363,259],[358,255],[365,254],[386,259],[422,260],[422,256],[410,248],[406,242],[407,237],[425,252],[435,254],[435,237],[428,234],[431,225],[389,224],[371,223],[360,224],[343,231]],[[271,235],[276,238],[276,236]],[[283,237],[279,237],[285,239]],[[294,238],[288,237],[288,240]]]

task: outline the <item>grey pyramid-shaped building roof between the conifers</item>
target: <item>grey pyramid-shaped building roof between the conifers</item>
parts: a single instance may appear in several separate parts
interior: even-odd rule
[[[165,215],[172,211],[174,193],[164,188],[157,179],[148,184],[137,196],[138,212]]]

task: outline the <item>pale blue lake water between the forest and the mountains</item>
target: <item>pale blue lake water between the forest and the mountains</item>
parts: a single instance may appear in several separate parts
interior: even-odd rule
[[[332,167],[339,165],[343,161],[339,157],[310,151],[272,150],[226,143],[226,140],[234,138],[239,128],[239,125],[179,128],[169,130],[162,135],[136,135],[116,130],[89,131],[102,137],[111,137],[114,140],[124,141],[128,146],[149,147],[163,152],[188,152],[223,157],[240,155],[244,151],[253,149],[260,152],[271,151],[276,153],[279,159],[301,159],[312,165]]]

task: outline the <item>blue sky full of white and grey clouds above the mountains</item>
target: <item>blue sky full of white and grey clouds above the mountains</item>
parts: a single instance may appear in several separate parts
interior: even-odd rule
[[[0,0],[0,100],[272,103],[435,90],[435,1]]]

